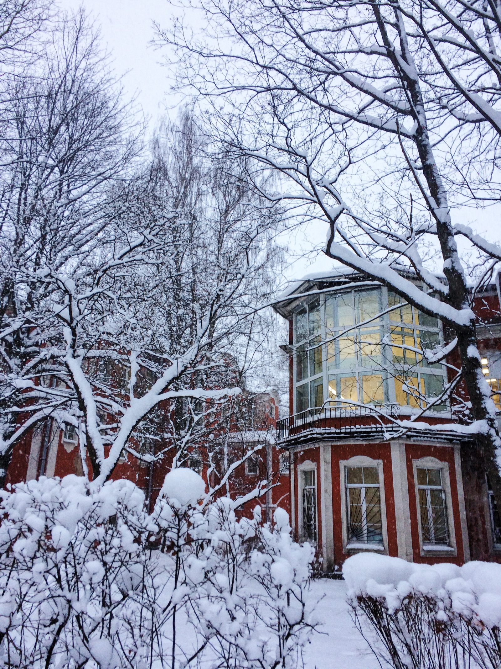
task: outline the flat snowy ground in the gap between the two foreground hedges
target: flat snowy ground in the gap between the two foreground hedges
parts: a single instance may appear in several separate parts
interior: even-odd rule
[[[346,603],[345,581],[312,581],[324,621],[323,634],[313,634],[304,650],[305,669],[379,669],[379,664],[353,625]]]

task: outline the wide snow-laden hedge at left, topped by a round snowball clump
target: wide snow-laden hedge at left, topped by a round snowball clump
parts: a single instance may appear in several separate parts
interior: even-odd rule
[[[179,468],[151,515],[132,482],[41,477],[2,493],[0,667],[295,666],[313,550],[289,517],[236,520]],[[154,549],[155,548],[155,549]]]

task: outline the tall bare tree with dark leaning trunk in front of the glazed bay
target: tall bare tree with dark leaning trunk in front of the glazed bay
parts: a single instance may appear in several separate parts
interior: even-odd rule
[[[157,26],[178,86],[212,100],[228,146],[285,184],[300,221],[327,224],[325,254],[438,317],[455,336],[481,468],[501,501],[500,439],[472,299],[501,248],[455,222],[499,201],[500,14],[452,0],[190,3],[203,37]],[[222,66],[224,64],[224,66]],[[224,104],[222,99],[224,98]],[[484,270],[468,288],[467,240]],[[438,254],[446,280],[427,262]],[[415,280],[405,278],[401,268]],[[498,502],[499,503],[499,502]]]

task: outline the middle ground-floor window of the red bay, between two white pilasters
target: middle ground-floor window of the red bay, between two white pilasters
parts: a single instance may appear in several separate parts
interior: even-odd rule
[[[382,544],[381,492],[377,467],[346,468],[348,544]]]

